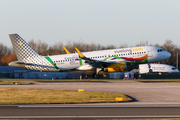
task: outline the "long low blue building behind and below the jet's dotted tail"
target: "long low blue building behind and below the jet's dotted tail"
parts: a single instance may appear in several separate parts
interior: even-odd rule
[[[22,78],[22,79],[71,79],[79,78],[81,73],[68,72],[40,72],[10,66],[0,66],[0,78]]]

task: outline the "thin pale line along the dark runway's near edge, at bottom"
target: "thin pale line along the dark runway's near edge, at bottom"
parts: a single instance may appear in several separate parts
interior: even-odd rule
[[[180,115],[144,115],[144,116],[0,116],[0,119],[18,118],[179,118]]]

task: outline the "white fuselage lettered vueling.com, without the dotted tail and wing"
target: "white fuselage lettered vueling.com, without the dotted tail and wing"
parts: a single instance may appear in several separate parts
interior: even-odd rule
[[[158,62],[166,60],[171,56],[167,51],[155,46],[82,52],[82,54],[90,59],[104,60],[112,63],[127,62],[127,64]],[[57,67],[62,70],[76,69],[86,65],[84,60],[82,60],[81,64],[77,53],[53,55],[49,57],[57,65]]]

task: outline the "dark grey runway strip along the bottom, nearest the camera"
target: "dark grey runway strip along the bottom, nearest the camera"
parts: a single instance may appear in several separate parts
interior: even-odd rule
[[[180,106],[0,106],[0,118],[178,118]]]

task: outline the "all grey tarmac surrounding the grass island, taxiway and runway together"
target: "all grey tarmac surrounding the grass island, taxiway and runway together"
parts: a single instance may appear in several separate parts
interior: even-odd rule
[[[1,105],[0,118],[180,118],[179,82],[32,81],[32,83],[32,85],[0,85],[0,87],[114,92],[125,94],[134,101],[94,104]]]

